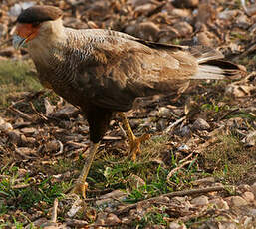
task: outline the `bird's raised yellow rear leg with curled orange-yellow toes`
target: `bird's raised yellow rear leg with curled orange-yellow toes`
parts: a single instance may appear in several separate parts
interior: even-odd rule
[[[132,132],[132,129],[130,128],[126,114],[120,113],[120,116],[122,118],[122,122],[123,122],[125,128],[127,129],[128,141],[129,141],[129,152],[131,153],[131,158],[134,161],[136,159],[136,155],[141,153],[141,150],[140,150],[141,142],[149,139],[150,135],[143,134],[140,137],[136,137],[134,135],[134,133]]]

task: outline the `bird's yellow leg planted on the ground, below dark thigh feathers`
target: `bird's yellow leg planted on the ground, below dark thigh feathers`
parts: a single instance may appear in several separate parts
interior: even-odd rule
[[[90,151],[89,155],[86,157],[85,165],[83,167],[82,172],[80,173],[80,176],[71,190],[71,193],[80,194],[83,196],[83,198],[86,198],[86,190],[88,187],[88,183],[86,182],[90,167],[92,165],[92,162],[94,160],[95,154],[97,152],[97,149],[99,147],[100,143],[93,143],[90,142]]]

